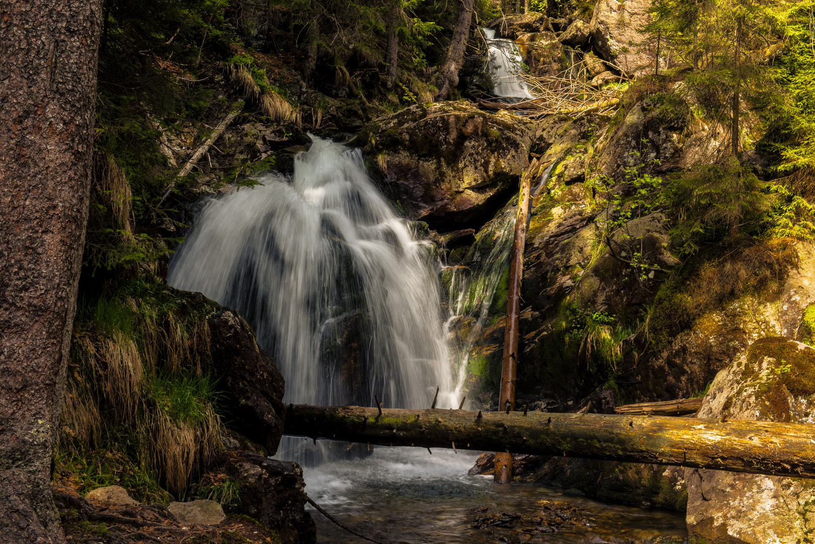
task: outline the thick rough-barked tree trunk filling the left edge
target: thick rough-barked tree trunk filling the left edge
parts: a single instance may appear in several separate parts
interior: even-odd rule
[[[101,3],[0,7],[0,542],[64,542],[49,485],[88,215]]]

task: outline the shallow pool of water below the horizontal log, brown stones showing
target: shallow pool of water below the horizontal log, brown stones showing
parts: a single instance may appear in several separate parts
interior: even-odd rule
[[[336,443],[335,443],[336,444]],[[379,448],[305,467],[306,493],[350,529],[393,544],[645,542],[687,537],[685,516],[468,476],[478,453]],[[306,506],[311,509],[311,506]],[[365,542],[311,509],[320,544]]]

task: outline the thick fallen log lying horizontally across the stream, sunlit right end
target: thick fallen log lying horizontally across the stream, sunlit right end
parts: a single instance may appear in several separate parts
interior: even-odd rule
[[[719,419],[289,405],[284,432],[815,478],[815,426]]]

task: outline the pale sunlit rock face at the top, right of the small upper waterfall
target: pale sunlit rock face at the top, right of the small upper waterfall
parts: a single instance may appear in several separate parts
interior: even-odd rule
[[[599,0],[589,24],[594,51],[630,76],[654,71],[654,45],[637,45],[647,38],[637,31],[651,20],[650,0]]]

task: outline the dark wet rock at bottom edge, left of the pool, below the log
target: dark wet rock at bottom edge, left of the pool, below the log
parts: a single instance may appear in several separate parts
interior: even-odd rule
[[[227,468],[240,486],[240,511],[280,535],[283,544],[316,542],[314,520],[303,509],[306,486],[295,462],[241,452]]]

